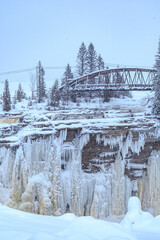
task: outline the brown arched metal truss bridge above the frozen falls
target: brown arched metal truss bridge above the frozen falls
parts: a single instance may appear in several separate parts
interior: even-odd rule
[[[70,79],[68,85],[74,92],[150,91],[155,74],[156,70],[149,68],[106,69]]]

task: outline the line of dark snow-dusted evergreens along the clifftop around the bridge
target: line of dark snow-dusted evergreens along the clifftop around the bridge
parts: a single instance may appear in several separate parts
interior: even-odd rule
[[[155,78],[154,78],[154,87],[155,98],[153,103],[153,113],[156,115],[160,114],[160,40],[158,43],[158,51],[155,58],[155,69],[157,70]],[[80,99],[83,98],[84,101],[90,102],[92,98],[101,97],[102,100],[109,101],[112,97],[120,97],[120,96],[130,96],[129,92],[114,92],[114,91],[104,91],[102,95],[92,94],[92,93],[84,93],[77,94],[75,93],[69,86],[70,81],[74,79],[74,77],[84,76],[86,74],[100,71],[107,68],[105,66],[104,60],[101,54],[97,54],[93,43],[90,43],[88,48],[85,43],[82,42],[79,51],[77,53],[76,60],[76,70],[73,73],[71,66],[67,63],[64,74],[61,78],[61,82],[59,83],[58,79],[56,79],[53,83],[53,86],[50,89],[46,89],[45,83],[45,71],[44,68],[39,61],[36,67],[36,76],[31,75],[30,78],[30,89],[31,89],[31,97],[26,96],[25,92],[22,89],[21,84],[19,83],[18,89],[15,92],[14,96],[11,98],[10,90],[9,90],[9,81],[5,80],[4,91],[2,96],[2,104],[3,110],[9,111],[17,102],[21,102],[23,99],[28,99],[28,106],[31,106],[34,102],[42,103],[47,101],[47,105],[58,108],[60,105],[68,105],[70,101],[79,103]],[[92,80],[91,80],[92,81]],[[122,81],[121,77],[116,75],[115,83],[120,83]],[[92,82],[91,82],[92,83]],[[90,84],[91,84],[90,83]]]

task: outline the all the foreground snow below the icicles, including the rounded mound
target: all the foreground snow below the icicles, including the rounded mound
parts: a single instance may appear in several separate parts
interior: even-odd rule
[[[139,199],[130,198],[128,213],[121,224],[76,217],[21,212],[0,205],[1,240],[159,240],[160,216],[142,212]]]

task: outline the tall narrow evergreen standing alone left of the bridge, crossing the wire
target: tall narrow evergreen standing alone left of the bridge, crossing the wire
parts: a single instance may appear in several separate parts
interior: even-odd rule
[[[46,86],[44,81],[45,71],[39,61],[37,66],[37,101],[42,102],[44,97],[46,97]]]

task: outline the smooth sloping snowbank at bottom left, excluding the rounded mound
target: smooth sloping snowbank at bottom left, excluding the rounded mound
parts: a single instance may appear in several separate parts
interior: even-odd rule
[[[92,217],[42,216],[0,205],[1,240],[136,240],[117,223]]]

